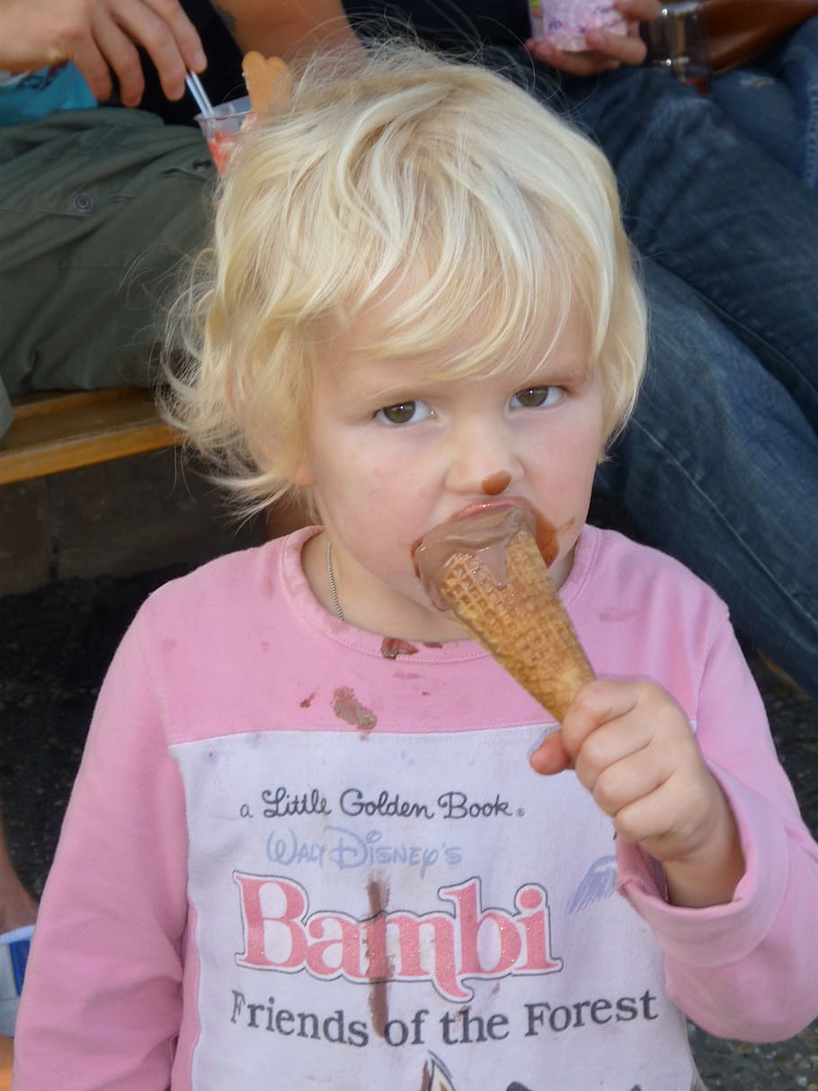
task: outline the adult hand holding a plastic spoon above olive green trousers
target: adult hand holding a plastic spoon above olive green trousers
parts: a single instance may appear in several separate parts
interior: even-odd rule
[[[145,89],[144,48],[168,98],[184,94],[188,69],[207,61],[179,0],[0,0],[0,69],[26,72],[73,61],[96,98],[111,94],[113,72],[124,106]]]

